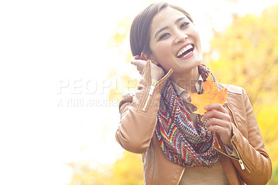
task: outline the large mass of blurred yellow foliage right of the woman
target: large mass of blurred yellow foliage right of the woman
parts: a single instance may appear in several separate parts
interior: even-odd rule
[[[204,62],[221,83],[247,91],[259,123],[278,184],[278,5],[260,15],[234,17],[223,33],[214,32]]]

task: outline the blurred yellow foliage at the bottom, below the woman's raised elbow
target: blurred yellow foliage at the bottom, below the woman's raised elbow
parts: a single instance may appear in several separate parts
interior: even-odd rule
[[[144,179],[141,156],[126,151],[113,166],[90,168],[88,163],[70,163],[69,166],[74,170],[70,185],[138,185]]]

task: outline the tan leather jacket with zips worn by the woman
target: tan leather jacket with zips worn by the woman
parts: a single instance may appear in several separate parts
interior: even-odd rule
[[[116,140],[125,150],[142,154],[144,184],[176,185],[184,171],[182,166],[165,157],[154,134],[161,89],[171,74],[172,70],[152,86],[150,63],[147,63],[136,94],[124,95],[119,105],[121,118]],[[213,143],[215,150],[221,153],[220,163],[229,183],[266,184],[272,175],[272,165],[245,90],[220,83],[219,86],[228,90],[224,108],[231,116],[231,143],[239,156],[233,158],[223,150],[222,143],[221,148]]]

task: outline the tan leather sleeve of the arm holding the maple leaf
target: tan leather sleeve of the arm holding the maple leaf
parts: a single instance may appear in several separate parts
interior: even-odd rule
[[[241,159],[243,163],[240,166],[238,161],[232,161],[245,183],[267,184],[272,175],[272,165],[270,157],[265,150],[263,138],[259,131],[252,105],[244,89],[243,101],[245,104],[243,108],[245,110],[243,111],[246,113],[246,118],[241,118],[241,120],[246,121],[244,127],[247,133],[244,131],[240,132],[233,124],[233,136],[231,138],[231,143],[236,148],[239,159]],[[243,136],[243,134],[245,136]]]

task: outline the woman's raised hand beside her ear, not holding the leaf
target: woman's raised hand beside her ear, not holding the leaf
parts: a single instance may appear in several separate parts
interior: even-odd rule
[[[131,58],[131,64],[136,66],[136,69],[140,74],[142,74],[142,71],[146,65],[147,61],[143,60],[140,56],[136,55]],[[164,76],[164,70],[161,67],[158,67],[158,65],[155,65],[154,63],[151,64],[151,77],[152,79],[158,81]]]

